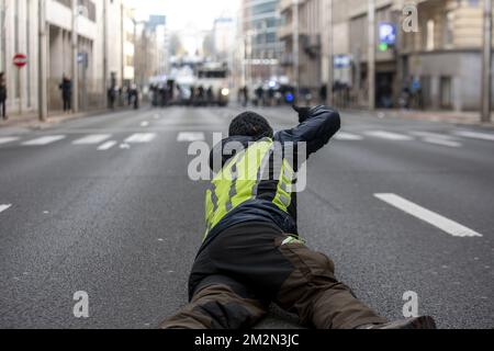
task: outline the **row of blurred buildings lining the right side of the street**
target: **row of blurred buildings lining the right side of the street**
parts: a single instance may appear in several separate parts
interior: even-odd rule
[[[299,0],[297,49],[293,47],[294,3],[279,3],[278,34],[287,48],[281,64],[290,80],[299,79],[300,88],[314,91],[332,77],[336,103],[368,106],[369,1]],[[415,1],[415,31],[403,29],[408,2],[375,0],[374,4],[375,105],[398,107],[403,92],[415,89],[419,95],[412,103],[415,109],[479,110],[483,1]]]

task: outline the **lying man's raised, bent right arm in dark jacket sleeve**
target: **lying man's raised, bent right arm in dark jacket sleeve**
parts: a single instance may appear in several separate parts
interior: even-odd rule
[[[299,112],[300,124],[292,128],[279,132],[276,139],[281,143],[307,143],[307,158],[323,148],[339,131],[341,121],[339,113],[327,106],[313,109],[294,107]]]

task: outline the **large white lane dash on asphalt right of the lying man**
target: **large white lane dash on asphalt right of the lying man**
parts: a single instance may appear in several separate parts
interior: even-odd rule
[[[454,237],[482,237],[481,234],[473,231],[472,229],[467,228],[461,224],[458,224],[417,204],[414,204],[413,202],[409,202],[408,200],[403,199],[396,194],[374,194],[374,196]]]

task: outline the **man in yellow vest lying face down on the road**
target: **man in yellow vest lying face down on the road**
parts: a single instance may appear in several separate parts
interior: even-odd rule
[[[329,258],[300,238],[292,192],[299,162],[283,146],[306,141],[308,157],[339,131],[340,117],[326,106],[294,109],[299,126],[277,134],[265,117],[245,112],[214,147],[210,163],[217,176],[206,193],[207,231],[189,279],[190,304],[160,327],[245,329],[273,302],[318,329],[434,328],[430,317],[388,322],[335,278]],[[232,152],[238,144],[244,149]]]

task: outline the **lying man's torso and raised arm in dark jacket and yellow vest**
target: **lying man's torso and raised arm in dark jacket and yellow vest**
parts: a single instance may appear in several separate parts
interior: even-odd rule
[[[246,222],[269,222],[297,234],[295,179],[299,166],[339,131],[329,107],[302,109],[300,124],[271,136],[233,135],[215,146],[216,172],[206,193],[206,246],[223,230]],[[301,154],[304,150],[305,155]]]

